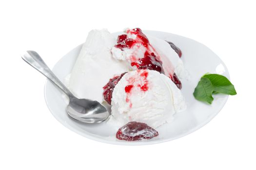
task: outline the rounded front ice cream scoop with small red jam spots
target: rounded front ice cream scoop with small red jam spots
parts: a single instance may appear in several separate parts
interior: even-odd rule
[[[177,86],[155,70],[138,69],[123,75],[113,91],[112,117],[121,124],[138,121],[156,128],[186,108]]]

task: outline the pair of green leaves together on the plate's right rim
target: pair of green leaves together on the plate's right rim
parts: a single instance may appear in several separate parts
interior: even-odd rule
[[[212,94],[217,93],[236,95],[236,89],[225,76],[205,74],[198,82],[193,95],[198,101],[211,104],[214,100]]]

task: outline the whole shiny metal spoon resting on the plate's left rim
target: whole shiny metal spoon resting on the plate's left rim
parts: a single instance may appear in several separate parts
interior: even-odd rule
[[[76,98],[70,90],[61,83],[51,69],[48,68],[36,51],[27,51],[27,53],[28,54],[23,55],[21,58],[51,80],[68,96],[69,104],[66,111],[71,118],[85,123],[99,123],[109,117],[110,113],[106,107],[99,102]]]

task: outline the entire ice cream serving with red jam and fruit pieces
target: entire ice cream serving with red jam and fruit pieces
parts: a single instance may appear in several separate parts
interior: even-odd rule
[[[79,98],[111,106],[107,123],[118,126],[119,140],[151,139],[157,128],[186,109],[182,52],[172,42],[125,29],[115,37],[92,30],[69,75],[69,88]]]

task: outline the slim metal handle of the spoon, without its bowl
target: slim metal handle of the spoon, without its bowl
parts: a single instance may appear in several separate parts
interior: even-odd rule
[[[36,51],[27,51],[29,55],[23,55],[21,58],[27,62],[30,66],[37,69],[55,85],[57,85],[68,97],[69,99],[75,98],[71,91],[56,77],[52,70],[44,63],[42,58]]]

